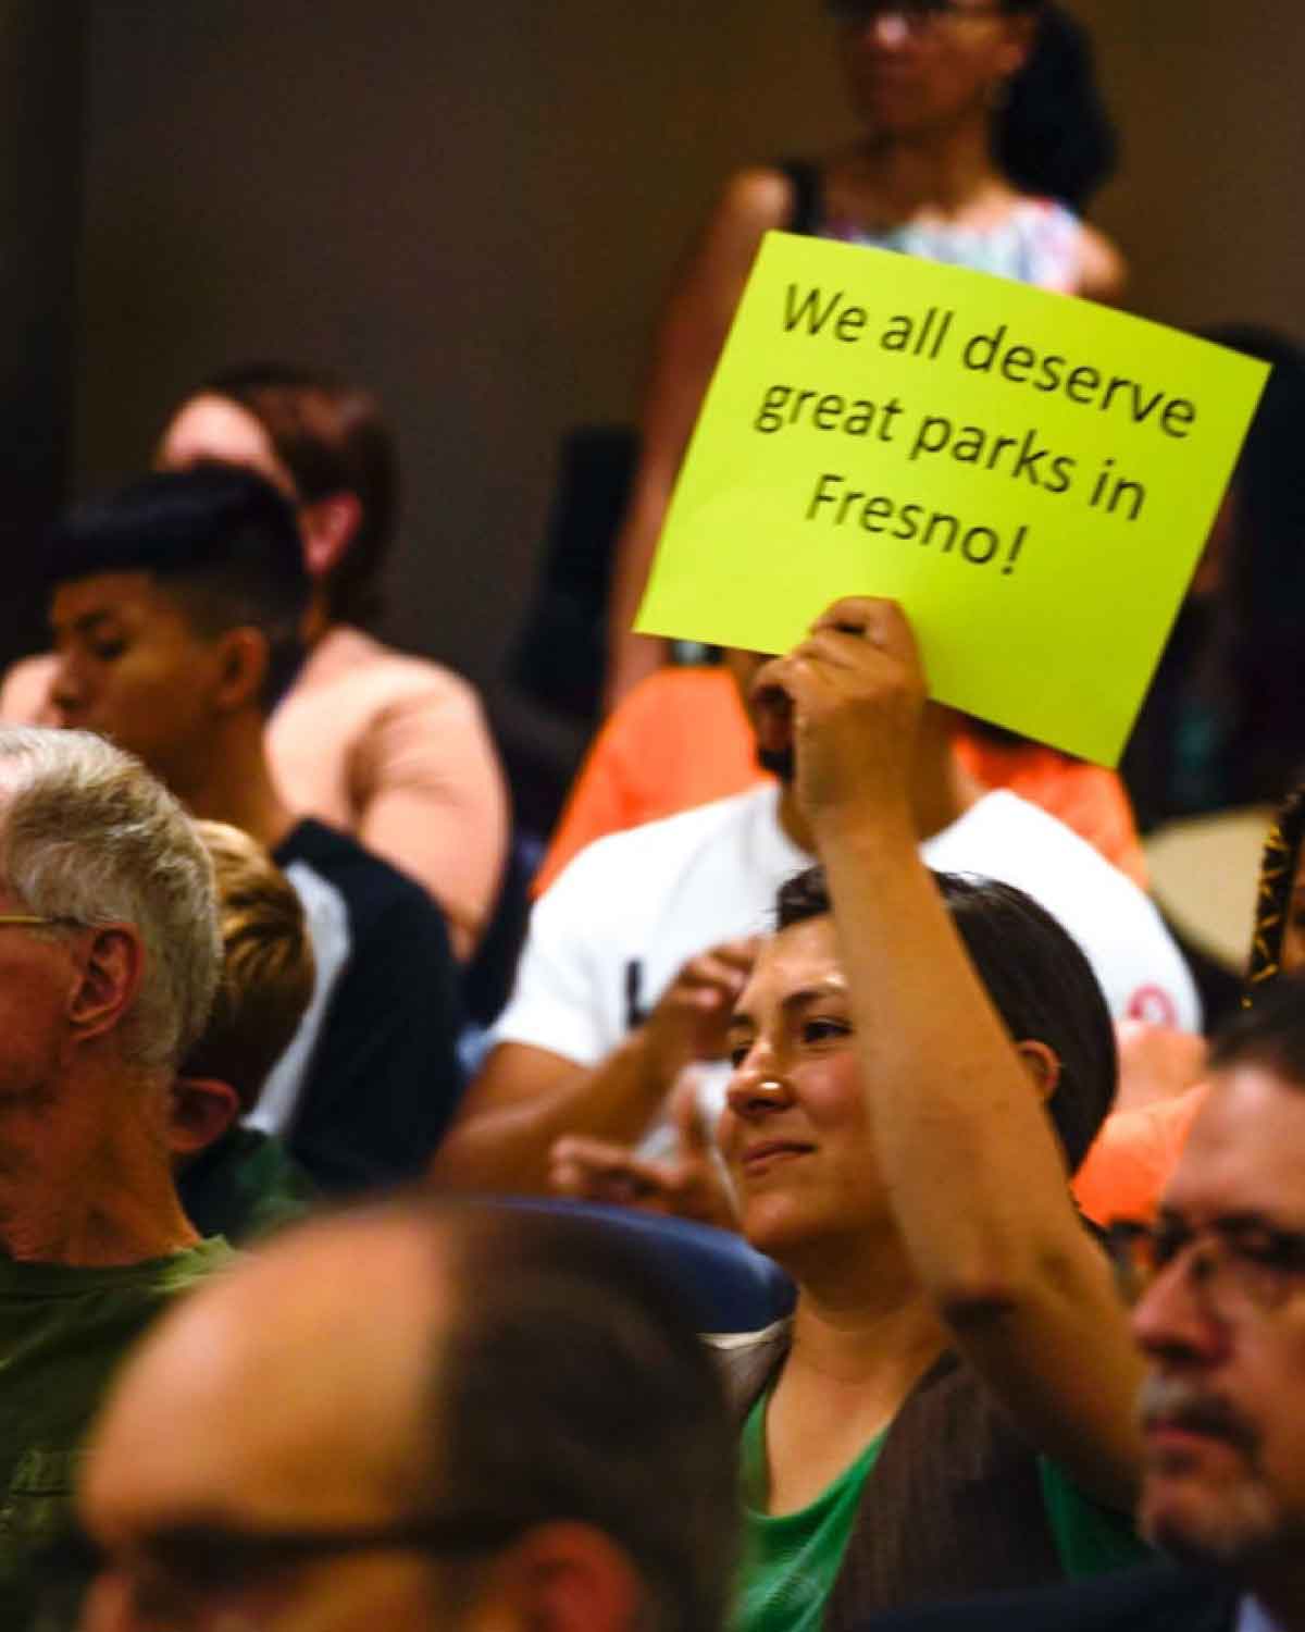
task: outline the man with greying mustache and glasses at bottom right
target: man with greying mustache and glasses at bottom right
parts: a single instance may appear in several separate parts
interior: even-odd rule
[[[1117,1226],[1145,1475],[1173,1563],[876,1622],[883,1632],[1300,1632],[1305,1627],[1305,981],[1215,1043],[1209,1098],[1153,1229]]]

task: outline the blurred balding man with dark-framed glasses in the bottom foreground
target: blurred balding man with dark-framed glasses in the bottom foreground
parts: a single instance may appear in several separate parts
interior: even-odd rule
[[[718,1632],[721,1386],[594,1226],[406,1203],[223,1276],[86,1461],[85,1632]]]

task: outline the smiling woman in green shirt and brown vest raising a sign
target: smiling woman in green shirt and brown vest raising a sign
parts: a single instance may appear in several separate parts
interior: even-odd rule
[[[798,1284],[791,1320],[716,1340],[732,1629],[843,1632],[1137,1560],[1140,1361],[1067,1182],[1114,1092],[1109,1015],[1028,896],[920,862],[904,617],[843,601],[768,676],[824,867],[780,891],[729,1031],[741,1227]]]

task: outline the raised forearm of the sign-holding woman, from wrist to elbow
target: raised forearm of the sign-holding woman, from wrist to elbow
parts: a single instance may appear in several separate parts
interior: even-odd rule
[[[879,1160],[917,1271],[940,1304],[1016,1291],[1078,1235],[1036,1087],[905,816],[817,837]]]

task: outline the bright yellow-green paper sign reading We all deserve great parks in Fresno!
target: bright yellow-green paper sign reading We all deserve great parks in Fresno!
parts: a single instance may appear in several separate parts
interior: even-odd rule
[[[767,235],[635,627],[786,651],[905,607],[930,692],[1103,765],[1267,379],[1106,307]]]

